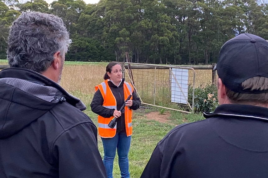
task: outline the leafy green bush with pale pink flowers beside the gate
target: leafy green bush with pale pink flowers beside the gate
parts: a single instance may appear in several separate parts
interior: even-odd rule
[[[193,87],[188,87],[188,98],[192,98]],[[194,111],[195,112],[212,112],[219,105],[218,90],[214,84],[201,84],[194,90]]]

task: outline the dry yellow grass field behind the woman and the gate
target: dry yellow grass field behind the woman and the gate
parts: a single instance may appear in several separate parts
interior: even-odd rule
[[[64,65],[60,85],[88,105],[94,95],[94,87],[103,81],[106,65],[107,63]],[[127,79],[128,71],[126,70],[125,72],[126,81],[129,81],[129,79]],[[211,70],[195,70],[195,72],[195,86],[202,83],[211,83]],[[154,77],[155,74],[156,78]],[[169,86],[169,70],[157,69],[155,71],[153,69],[136,69],[133,70],[133,77],[138,93],[141,93],[143,97],[153,98],[153,93],[155,92],[157,94],[156,99],[159,100],[159,102],[168,104],[164,103],[164,99],[166,100],[167,93],[169,93],[167,91],[167,86]],[[154,80],[156,80],[155,90],[153,90]],[[189,82],[191,84],[192,80],[193,72],[189,70]],[[162,95],[165,97],[163,98]],[[168,102],[168,100],[166,102]]]

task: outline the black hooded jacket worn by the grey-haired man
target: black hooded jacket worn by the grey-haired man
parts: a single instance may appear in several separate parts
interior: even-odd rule
[[[104,178],[85,105],[27,69],[0,72],[0,177]]]

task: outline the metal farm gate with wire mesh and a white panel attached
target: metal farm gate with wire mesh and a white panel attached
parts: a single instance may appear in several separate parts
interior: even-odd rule
[[[142,104],[193,112],[195,70],[192,67],[124,63],[122,70]]]

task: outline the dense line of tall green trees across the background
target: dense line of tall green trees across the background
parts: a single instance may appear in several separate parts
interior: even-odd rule
[[[254,0],[32,0],[0,2],[0,59],[8,27],[22,11],[62,18],[73,41],[69,61],[215,63],[225,41],[253,33],[268,39],[268,7]]]

